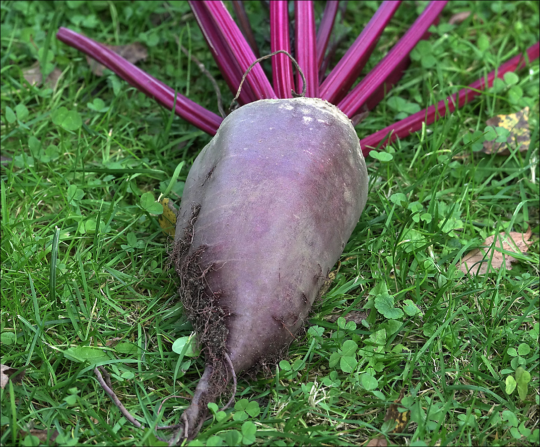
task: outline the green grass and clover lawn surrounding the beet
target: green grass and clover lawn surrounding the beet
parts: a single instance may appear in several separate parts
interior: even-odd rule
[[[417,6],[406,4],[379,52],[414,20]],[[373,8],[349,2],[345,42]],[[247,10],[268,53],[265,12],[259,2]],[[473,14],[448,25],[462,11]],[[210,137],[110,72],[96,77],[54,33],[68,26],[109,44],[138,40],[149,53],[139,66],[215,111],[212,85],[178,37],[218,78],[224,104],[232,94],[185,2],[19,1],[0,12],[1,143],[10,159],[1,168],[1,363],[25,369],[0,391],[0,442],[46,444],[40,430],[57,430],[58,445],[164,445],[125,420],[93,368],[106,365],[145,427],[179,421],[204,362],[172,350],[192,328],[147,193],[169,189],[178,201]],[[359,136],[523,51],[538,40],[538,20],[537,2],[450,2]],[[24,80],[36,61],[62,73],[53,88]],[[192,445],[365,445],[380,435],[395,445],[538,444],[538,97],[536,61],[388,155],[368,157],[368,205],[306,333],[271,372],[240,380],[234,409],[214,407]],[[485,120],[525,106],[527,150],[478,150]],[[456,268],[486,237],[529,226],[532,244],[511,270]],[[402,388],[409,424],[398,435],[383,420]],[[178,397],[159,410],[169,396]]]

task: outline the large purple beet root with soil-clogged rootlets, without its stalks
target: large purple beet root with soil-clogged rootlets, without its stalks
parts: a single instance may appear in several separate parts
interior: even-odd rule
[[[175,442],[197,435],[235,374],[286,350],[367,189],[354,127],[326,101],[260,100],[221,123],[187,177],[171,254],[206,358]]]

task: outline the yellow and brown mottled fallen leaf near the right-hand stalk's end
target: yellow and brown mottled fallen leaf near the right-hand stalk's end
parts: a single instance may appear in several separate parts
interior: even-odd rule
[[[485,122],[491,127],[503,127],[509,130],[506,141],[484,141],[482,152],[486,154],[510,155],[509,148],[518,148],[519,152],[527,152],[531,144],[529,130],[529,107],[509,115],[497,115]]]

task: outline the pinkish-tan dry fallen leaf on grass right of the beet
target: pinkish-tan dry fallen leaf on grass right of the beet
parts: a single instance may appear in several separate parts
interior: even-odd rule
[[[531,235],[530,228],[525,233],[511,231],[508,235],[503,231],[496,235],[497,242],[495,244],[495,235],[490,236],[485,239],[484,247],[471,250],[463,257],[458,264],[458,269],[465,274],[486,274],[488,273],[488,264],[491,258],[492,268],[500,269],[504,263],[509,270],[512,268],[512,262],[516,262],[516,258],[502,253],[501,250],[512,253],[525,253],[529,249],[529,245],[532,244],[532,242],[528,242]]]

